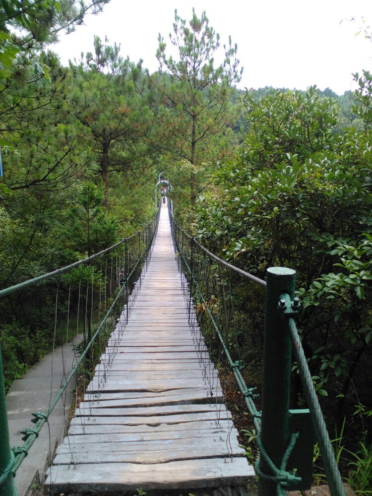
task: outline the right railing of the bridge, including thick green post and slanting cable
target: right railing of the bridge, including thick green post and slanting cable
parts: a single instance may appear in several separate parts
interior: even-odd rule
[[[170,209],[169,216],[190,324],[200,327],[209,353],[217,361],[221,363],[225,357],[221,382],[228,384],[223,369],[230,369],[253,418],[259,450],[255,463],[259,496],[281,496],[286,491],[310,488],[314,435],[331,494],[344,496],[296,327],[300,302],[295,297],[295,271],[272,267],[266,271],[266,280],[262,280],[201,246],[176,223]],[[259,347],[262,327],[262,401],[258,410],[254,401],[258,394],[246,384],[243,369],[254,361],[248,339]],[[290,409],[292,351],[309,409]]]

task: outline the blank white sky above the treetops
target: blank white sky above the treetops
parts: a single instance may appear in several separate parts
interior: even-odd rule
[[[63,64],[92,51],[93,36],[120,43],[121,54],[133,62],[143,59],[150,72],[157,70],[155,52],[159,32],[169,41],[174,9],[186,20],[192,6],[199,16],[206,11],[210,25],[220,33],[221,44],[232,36],[244,67],[239,87],[263,86],[306,89],[316,84],[342,94],[353,89],[352,72],[371,70],[372,43],[362,25],[372,25],[371,0],[111,0],[85,25],[62,36],[53,47]],[[355,22],[343,21],[355,17]],[[372,30],[372,27],[371,27]]]

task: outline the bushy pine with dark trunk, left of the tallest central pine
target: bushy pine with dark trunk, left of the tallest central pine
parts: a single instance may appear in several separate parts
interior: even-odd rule
[[[94,54],[86,55],[85,64],[71,65],[70,74],[74,117],[85,128],[94,150],[108,207],[112,177],[121,182],[138,178],[151,165],[151,149],[144,135],[152,114],[142,62],[124,60],[120,46],[108,45],[107,38],[105,42],[95,36]]]

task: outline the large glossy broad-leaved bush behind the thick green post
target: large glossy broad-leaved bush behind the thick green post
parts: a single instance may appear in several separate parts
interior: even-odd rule
[[[315,87],[248,94],[248,132],[194,214],[202,244],[235,265],[260,277],[274,265],[297,270],[303,346],[338,419],[358,395],[369,401],[357,372],[371,370],[372,355],[370,91],[365,74],[354,107],[364,130],[340,134],[334,102]]]

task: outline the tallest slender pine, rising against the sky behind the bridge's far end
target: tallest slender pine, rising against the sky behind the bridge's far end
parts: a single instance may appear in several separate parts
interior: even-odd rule
[[[238,70],[237,45],[229,38],[223,47],[223,62],[215,66],[220,37],[209,26],[205,12],[198,18],[193,9],[187,25],[176,10],[173,30],[170,39],[177,59],[167,56],[167,45],[159,34],[156,57],[160,73],[151,77],[160,100],[157,117],[161,134],[156,139],[163,153],[174,160],[200,166],[224,157],[234,143],[231,127],[239,111],[230,102],[231,85],[240,80],[242,72]],[[192,171],[189,186],[194,202],[197,190]]]

